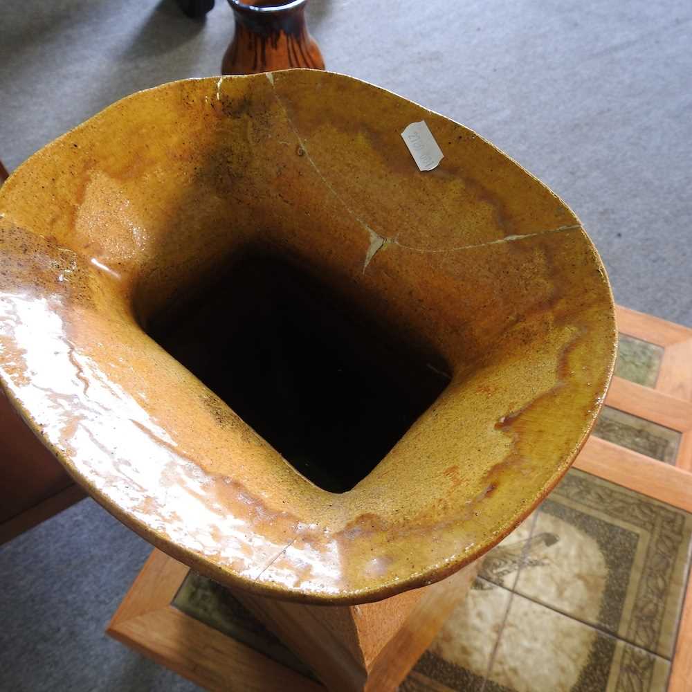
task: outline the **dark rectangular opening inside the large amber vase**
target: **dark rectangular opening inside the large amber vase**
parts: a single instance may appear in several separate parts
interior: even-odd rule
[[[370,473],[449,381],[439,356],[275,257],[237,260],[147,331],[334,493]]]

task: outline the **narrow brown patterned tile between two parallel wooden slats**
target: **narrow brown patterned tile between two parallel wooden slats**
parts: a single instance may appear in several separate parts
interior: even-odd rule
[[[677,430],[611,406],[603,406],[594,427],[594,435],[666,464],[675,464],[681,437]]]

